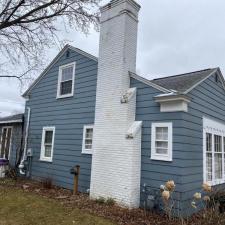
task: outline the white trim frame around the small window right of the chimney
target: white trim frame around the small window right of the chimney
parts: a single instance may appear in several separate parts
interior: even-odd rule
[[[155,147],[156,127],[168,127],[168,154],[163,155],[163,154],[156,153],[156,147]],[[173,124],[172,124],[172,122],[152,123],[151,159],[161,160],[161,161],[172,161],[173,160]]]

